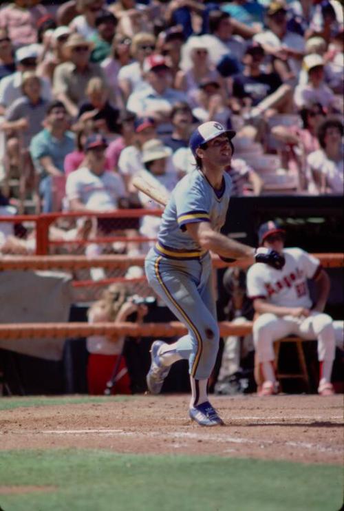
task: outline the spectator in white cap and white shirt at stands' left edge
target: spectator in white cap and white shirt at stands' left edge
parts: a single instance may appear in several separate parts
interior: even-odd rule
[[[39,56],[39,45],[31,44],[19,48],[16,52],[17,71],[10,76],[2,79],[0,82],[0,115],[3,114],[7,107],[23,95],[22,77],[25,71],[35,71],[37,58]],[[52,91],[49,81],[41,78],[41,96],[43,99],[50,101]]]

